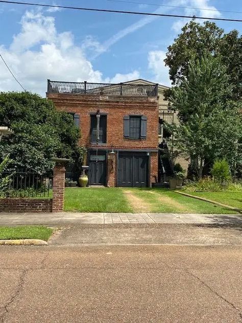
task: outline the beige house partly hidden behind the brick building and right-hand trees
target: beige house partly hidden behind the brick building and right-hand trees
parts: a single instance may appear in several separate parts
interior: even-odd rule
[[[147,81],[147,80],[142,80],[142,79],[137,79],[137,80],[133,80],[133,81],[129,81],[126,82],[125,84],[135,84],[135,85],[155,85],[156,83]],[[169,87],[158,84],[158,104],[159,104],[159,132],[158,132],[158,137],[159,137],[159,147],[160,148],[165,148],[166,150],[168,149],[167,145],[166,145],[166,139],[171,137],[171,134],[168,133],[164,128],[163,128],[163,122],[167,122],[169,124],[171,123],[179,123],[178,117],[177,117],[177,113],[174,111],[171,111],[168,109],[168,101],[165,100],[164,98],[164,91],[166,89],[168,89]],[[163,164],[164,167],[168,167],[168,160],[166,160],[165,158],[163,159]],[[182,168],[187,171],[188,168],[188,161],[183,158],[183,157],[176,157],[175,160],[173,160],[173,163],[179,163]],[[162,167],[159,167],[162,168]],[[172,175],[170,173],[170,171],[168,170],[168,176]],[[162,178],[161,178],[162,180]]]

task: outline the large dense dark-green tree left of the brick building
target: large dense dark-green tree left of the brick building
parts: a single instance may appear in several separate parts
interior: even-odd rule
[[[28,92],[0,93],[0,125],[14,134],[0,143],[0,161],[11,158],[10,167],[45,172],[54,166],[52,157],[77,161],[80,130],[66,112],[57,111],[51,100]]]

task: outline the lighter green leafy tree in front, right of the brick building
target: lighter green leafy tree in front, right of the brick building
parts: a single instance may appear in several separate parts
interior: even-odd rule
[[[180,120],[172,125],[174,145],[190,158],[199,177],[205,163],[215,158],[226,158],[233,172],[242,162],[240,103],[229,99],[232,91],[226,67],[211,54],[192,58],[186,78],[171,90]]]

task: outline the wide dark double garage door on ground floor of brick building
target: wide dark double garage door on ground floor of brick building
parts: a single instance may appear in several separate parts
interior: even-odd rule
[[[119,152],[118,186],[148,187],[148,156],[146,153]]]

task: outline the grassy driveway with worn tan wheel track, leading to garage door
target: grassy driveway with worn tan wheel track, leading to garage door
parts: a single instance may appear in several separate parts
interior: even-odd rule
[[[133,189],[134,195],[150,203],[151,213],[236,214],[225,207],[180,195],[169,189]]]

